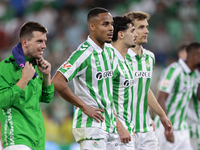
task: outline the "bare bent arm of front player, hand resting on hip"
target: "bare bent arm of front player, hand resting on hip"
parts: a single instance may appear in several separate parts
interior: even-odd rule
[[[88,106],[77,95],[75,95],[67,84],[67,80],[62,75],[62,73],[57,72],[52,82],[54,84],[55,90],[63,99],[79,107],[86,115],[94,118],[97,122],[104,121],[104,117],[100,113],[104,111],[100,108],[92,108]]]

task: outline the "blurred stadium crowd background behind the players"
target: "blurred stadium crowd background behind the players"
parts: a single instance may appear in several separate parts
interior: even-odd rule
[[[37,21],[49,30],[44,58],[52,64],[53,76],[86,40],[87,13],[96,6],[107,8],[113,16],[138,10],[151,15],[148,43],[144,47],[156,57],[151,83],[154,94],[163,68],[177,60],[178,46],[200,41],[200,2],[197,0],[1,0],[0,61],[18,43],[20,26],[26,21]],[[73,89],[72,82],[70,85]],[[41,104],[41,108],[47,146],[53,150],[76,150],[72,135],[73,106],[55,93],[53,101]]]

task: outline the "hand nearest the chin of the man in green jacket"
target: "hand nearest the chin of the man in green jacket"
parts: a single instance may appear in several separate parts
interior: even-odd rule
[[[44,60],[43,57],[41,57],[40,59],[36,59],[36,63],[38,66],[38,69],[40,70],[40,72],[43,73],[43,75],[45,76],[49,76],[51,73],[51,64]]]

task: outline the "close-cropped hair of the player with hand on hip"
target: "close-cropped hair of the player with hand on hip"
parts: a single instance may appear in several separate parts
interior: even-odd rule
[[[89,21],[91,18],[93,17],[97,17],[98,14],[101,14],[101,13],[107,13],[109,12],[107,9],[105,8],[102,8],[102,7],[95,7],[95,8],[92,8],[88,15],[87,15],[87,21]]]

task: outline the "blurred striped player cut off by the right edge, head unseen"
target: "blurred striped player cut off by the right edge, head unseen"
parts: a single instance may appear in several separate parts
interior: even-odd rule
[[[197,88],[200,84],[200,66],[195,71],[199,81],[193,90],[192,99],[189,102],[187,119],[190,130],[191,145],[193,147],[193,150],[199,150],[200,149],[200,99],[197,99],[197,90],[198,90]]]

